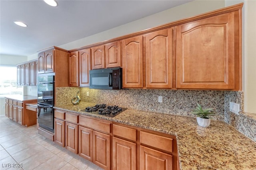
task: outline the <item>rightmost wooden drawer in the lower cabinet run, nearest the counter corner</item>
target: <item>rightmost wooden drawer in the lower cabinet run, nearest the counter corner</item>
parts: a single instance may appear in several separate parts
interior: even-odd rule
[[[172,152],[172,138],[140,131],[140,143]]]

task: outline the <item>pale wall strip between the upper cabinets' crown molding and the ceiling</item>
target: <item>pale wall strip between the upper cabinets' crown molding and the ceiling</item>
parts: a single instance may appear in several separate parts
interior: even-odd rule
[[[224,8],[224,0],[195,0],[59,47],[70,50]]]

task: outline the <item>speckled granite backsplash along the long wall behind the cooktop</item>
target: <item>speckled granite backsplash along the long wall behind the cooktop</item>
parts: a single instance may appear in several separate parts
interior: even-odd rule
[[[202,107],[216,108],[217,116],[213,119],[224,121],[224,91],[216,90],[96,90],[90,88],[63,87],[56,88],[56,105],[70,104],[73,96],[80,90],[82,102],[117,105],[131,109],[156,111],[176,115],[192,115],[191,108],[200,103]],[[89,92],[89,96],[86,96]],[[158,102],[158,96],[163,102]]]

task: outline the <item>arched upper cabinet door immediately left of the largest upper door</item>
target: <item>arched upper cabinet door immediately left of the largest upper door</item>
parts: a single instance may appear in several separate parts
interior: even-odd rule
[[[146,34],[146,88],[172,88],[173,27]]]

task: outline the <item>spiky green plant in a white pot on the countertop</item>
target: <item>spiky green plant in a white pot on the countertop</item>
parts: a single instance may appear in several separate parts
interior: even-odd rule
[[[199,126],[208,127],[211,123],[211,119],[209,116],[215,116],[215,109],[208,108],[202,109],[202,106],[197,103],[197,107],[192,109],[192,114],[196,115],[196,121]]]

